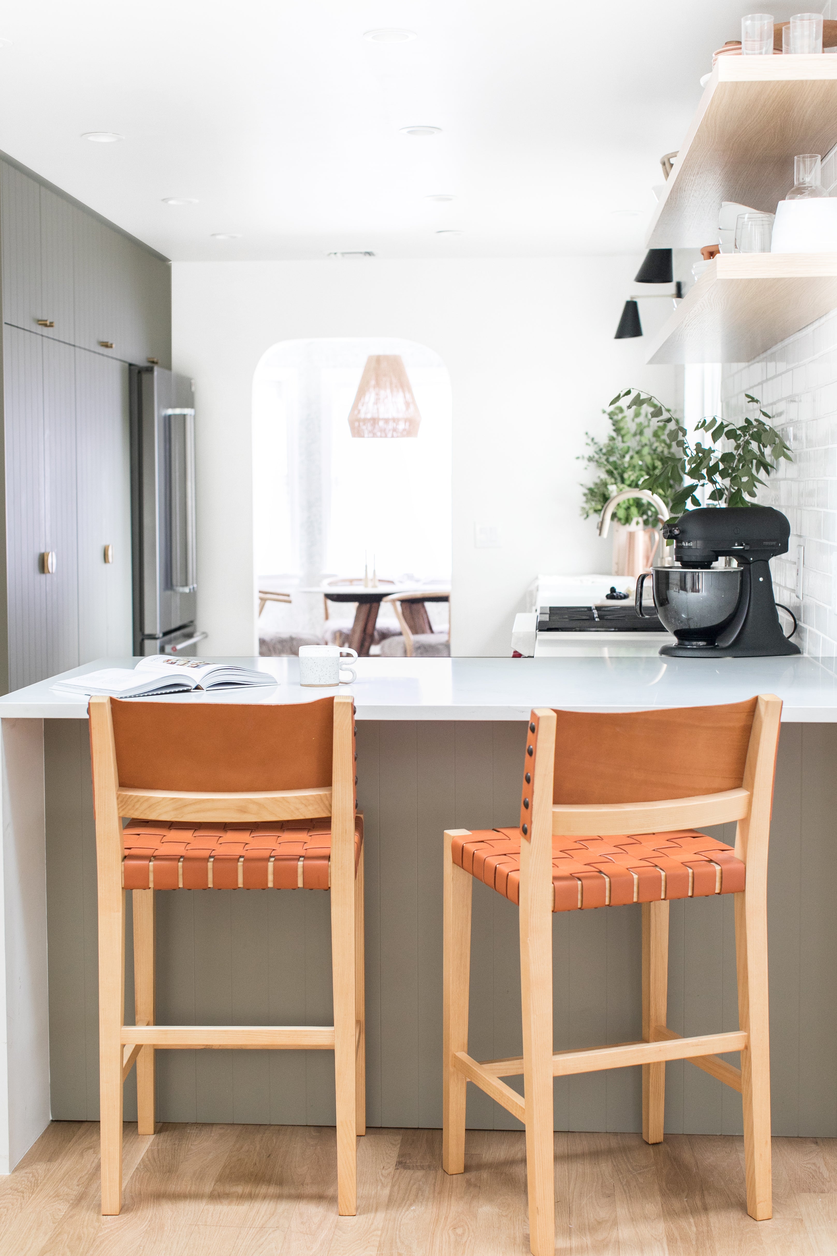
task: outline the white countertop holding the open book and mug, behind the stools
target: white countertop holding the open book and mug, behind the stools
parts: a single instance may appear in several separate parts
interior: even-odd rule
[[[138,659],[97,659],[64,672],[132,667]],[[217,659],[221,662],[221,659]],[[276,686],[215,693],[133,698],[153,702],[311,702],[335,690],[301,688],[296,658],[235,658],[259,667]],[[821,663],[792,658],[360,658],[351,693],[359,720],[526,720],[533,706],[576,711],[642,711],[655,707],[739,702],[777,693],[782,718],[837,722],[837,676]],[[84,720],[87,700],[59,693],[59,677],[0,697],[0,717]]]

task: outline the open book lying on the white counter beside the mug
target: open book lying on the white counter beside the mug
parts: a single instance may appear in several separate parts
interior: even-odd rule
[[[104,667],[87,676],[70,676],[53,686],[60,693],[92,697],[138,698],[152,693],[181,693],[187,690],[233,690],[240,686],[276,685],[270,672],[256,672],[235,663],[207,663],[202,658],[152,654],[136,667]]]

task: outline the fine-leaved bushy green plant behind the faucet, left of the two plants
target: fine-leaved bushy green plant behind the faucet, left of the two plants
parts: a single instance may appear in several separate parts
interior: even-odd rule
[[[614,494],[622,489],[645,487],[650,476],[660,485],[655,492],[666,505],[683,485],[683,476],[675,467],[676,436],[655,421],[663,413],[659,403],[654,398],[637,401],[634,397],[627,406],[620,404],[630,392],[620,393],[607,409],[602,409],[610,421],[606,440],[586,433],[590,452],[580,453],[578,458],[599,475],[592,484],[582,485],[581,514],[585,519],[601,514]],[[642,497],[626,497],[614,510],[614,519],[620,524],[630,524],[637,516],[650,528],[659,521],[651,502]]]

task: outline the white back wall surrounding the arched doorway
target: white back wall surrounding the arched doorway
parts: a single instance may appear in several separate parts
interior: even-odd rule
[[[578,514],[576,455],[622,387],[674,401],[674,369],[645,338],[614,340],[640,256],[450,261],[174,263],[174,369],[196,379],[198,627],[206,651],[256,649],[251,389],[272,344],[394,335],[434,349],[453,389],[454,654],[509,653],[538,571],[610,570],[610,541]],[[474,524],[499,531],[474,548]]]

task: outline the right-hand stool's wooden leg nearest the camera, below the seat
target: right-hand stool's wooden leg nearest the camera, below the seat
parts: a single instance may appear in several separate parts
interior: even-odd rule
[[[533,1256],[555,1251],[555,1120],[552,1115],[552,913],[530,877],[530,843],[521,843],[521,995],[530,1245]],[[545,880],[545,878],[540,878]],[[546,882],[545,882],[546,883]],[[548,889],[552,889],[551,883]],[[535,902],[532,902],[532,899]]]

